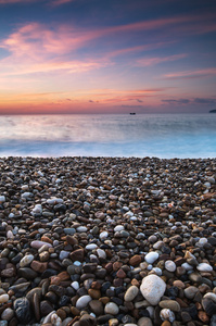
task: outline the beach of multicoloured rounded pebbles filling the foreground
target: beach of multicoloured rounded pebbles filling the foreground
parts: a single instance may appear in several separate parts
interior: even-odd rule
[[[216,160],[0,159],[0,326],[216,326]]]

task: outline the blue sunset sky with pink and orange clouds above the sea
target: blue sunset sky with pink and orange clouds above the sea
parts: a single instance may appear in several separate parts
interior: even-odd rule
[[[0,114],[213,109],[215,0],[0,0]]]

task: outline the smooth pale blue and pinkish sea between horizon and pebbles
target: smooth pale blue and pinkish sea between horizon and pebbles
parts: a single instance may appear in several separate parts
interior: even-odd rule
[[[216,158],[216,114],[0,116],[0,156]]]

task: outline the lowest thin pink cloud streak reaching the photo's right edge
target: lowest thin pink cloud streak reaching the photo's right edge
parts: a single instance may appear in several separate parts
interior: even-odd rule
[[[216,68],[204,68],[196,71],[185,71],[177,72],[164,75],[165,78],[168,79],[191,79],[191,78],[200,78],[200,77],[211,77],[216,75]]]

